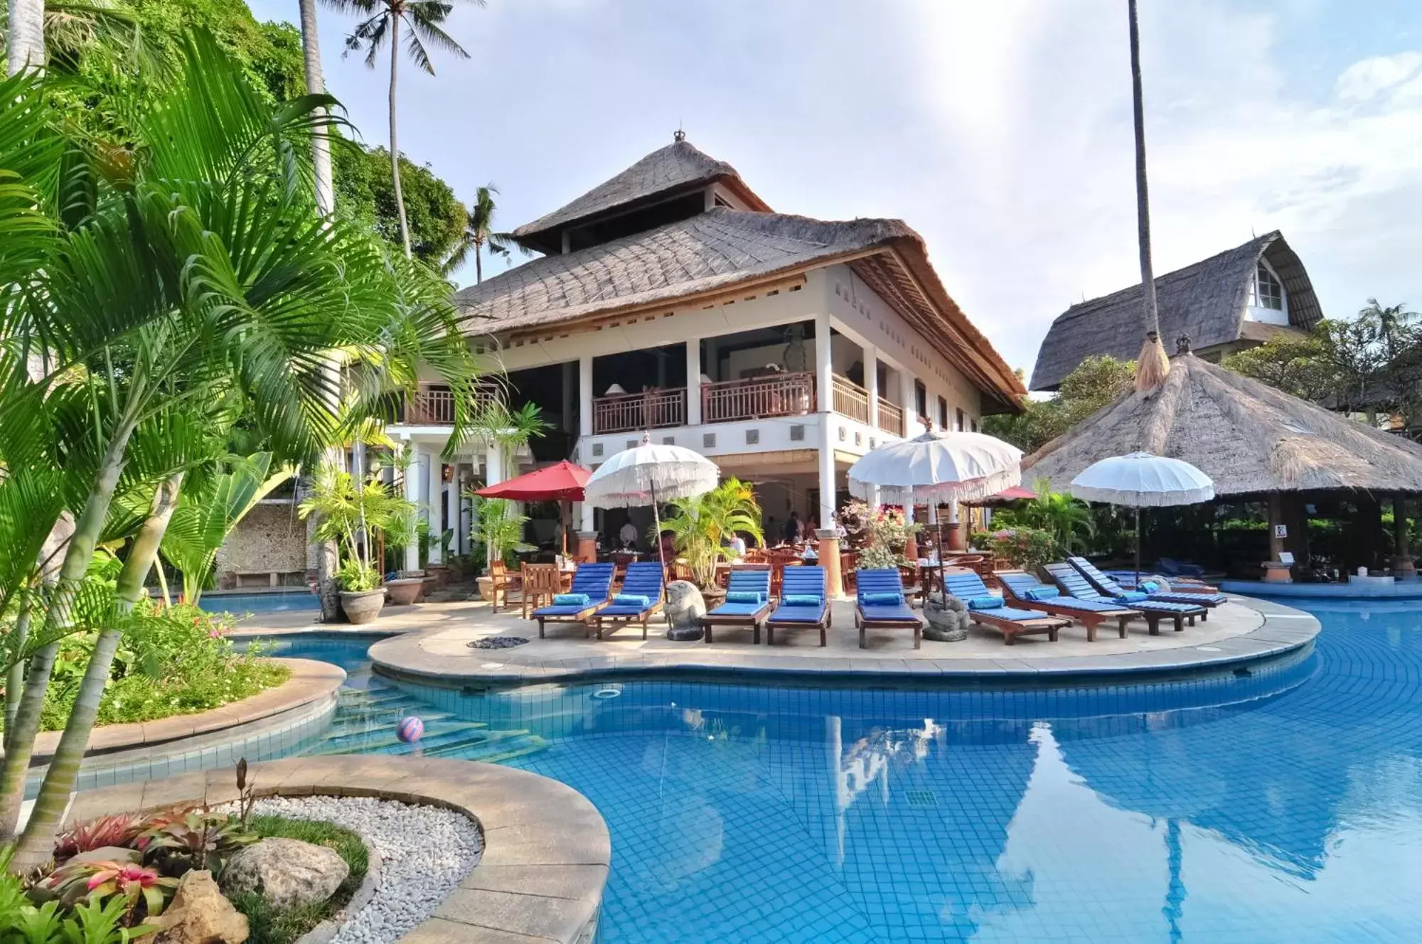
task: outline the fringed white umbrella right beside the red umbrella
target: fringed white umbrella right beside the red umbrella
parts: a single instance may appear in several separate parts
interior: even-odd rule
[[[609,456],[587,478],[583,500],[594,508],[641,508],[651,505],[657,522],[657,556],[661,566],[661,509],[658,502],[704,495],[715,488],[721,469],[700,452],[683,446],[657,445],[643,435],[641,445]]]

